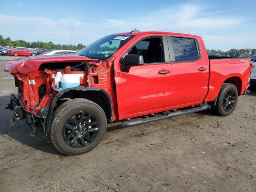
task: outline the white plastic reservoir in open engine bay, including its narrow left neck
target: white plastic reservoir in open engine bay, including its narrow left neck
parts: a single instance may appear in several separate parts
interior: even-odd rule
[[[53,74],[52,78],[55,78],[55,86],[58,90],[64,90],[68,88],[78,87],[80,85],[80,79],[82,79],[84,74]]]

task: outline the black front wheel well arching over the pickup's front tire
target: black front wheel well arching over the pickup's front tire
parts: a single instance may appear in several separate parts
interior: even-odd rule
[[[64,93],[56,102],[56,105],[59,106],[63,102],[66,102],[68,99],[75,98],[84,98],[91,100],[92,102],[98,104],[106,114],[108,120],[112,119],[112,102],[110,96],[103,91],[95,90],[70,90]],[[65,100],[67,99],[67,100]]]

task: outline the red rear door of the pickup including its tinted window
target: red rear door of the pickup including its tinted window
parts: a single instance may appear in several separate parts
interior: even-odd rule
[[[171,106],[200,104],[208,91],[209,66],[195,38],[167,38],[172,63]]]

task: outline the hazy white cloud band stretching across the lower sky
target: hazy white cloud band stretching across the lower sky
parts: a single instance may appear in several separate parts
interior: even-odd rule
[[[88,20],[88,19],[87,19]],[[255,36],[242,18],[214,11],[204,4],[181,4],[162,10],[128,18],[106,18],[97,22],[83,22],[72,18],[72,43],[89,44],[104,35],[127,32],[132,28],[140,31],[167,31],[200,35],[207,48],[255,47]],[[49,19],[0,15],[0,28],[4,37],[24,39],[28,42],[42,40],[68,44],[70,42],[70,18]],[[18,30],[17,30],[18,29]],[[243,33],[243,35],[242,35]],[[234,38],[236,39],[234,41]]]

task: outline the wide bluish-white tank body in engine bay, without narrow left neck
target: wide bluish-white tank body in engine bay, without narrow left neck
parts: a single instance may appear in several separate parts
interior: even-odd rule
[[[63,74],[61,78],[62,90],[78,87],[83,76],[84,74]]]

